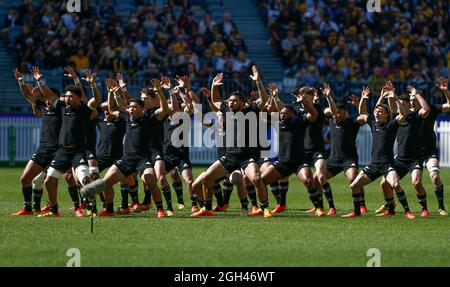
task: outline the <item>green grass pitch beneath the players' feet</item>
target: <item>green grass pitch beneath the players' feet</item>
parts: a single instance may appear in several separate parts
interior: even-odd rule
[[[199,174],[203,169],[195,168]],[[81,266],[366,266],[369,248],[378,248],[381,266],[450,266],[450,216],[437,214],[437,201],[428,173],[424,184],[431,216],[420,218],[417,198],[406,177],[402,183],[412,211],[408,220],[397,204],[397,216],[378,218],[383,203],[379,182],[366,188],[369,214],[356,219],[317,218],[303,185],[290,179],[288,211],[272,219],[243,217],[234,189],[229,211],[213,218],[156,218],[153,208],[131,216],[76,218],[67,188],[60,180],[62,217],[13,217],[22,205],[21,168],[0,169],[0,266],[66,266],[70,248],[80,250]],[[450,208],[450,170],[442,169],[446,206]],[[170,181],[170,179],[169,179]],[[330,181],[338,215],[352,209],[344,176]],[[140,185],[141,187],[142,185]],[[172,191],[173,192],[173,191]],[[188,203],[184,187],[185,202]],[[142,200],[142,189],[139,190]],[[44,195],[43,203],[46,202]],[[173,194],[175,198],[175,194]],[[274,198],[269,194],[270,206]],[[115,206],[120,193],[116,188]],[[325,203],[326,206],[326,203]]]

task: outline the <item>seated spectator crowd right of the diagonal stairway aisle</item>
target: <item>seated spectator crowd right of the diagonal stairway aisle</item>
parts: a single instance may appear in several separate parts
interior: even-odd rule
[[[410,81],[448,76],[449,1],[258,0],[286,75],[323,80]]]

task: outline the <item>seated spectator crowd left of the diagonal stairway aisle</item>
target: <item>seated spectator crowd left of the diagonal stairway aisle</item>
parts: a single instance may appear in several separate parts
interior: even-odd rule
[[[223,19],[213,19],[200,6],[194,7],[194,14],[192,4],[204,1],[155,5],[159,2],[136,0],[124,19],[117,1],[82,0],[82,13],[69,13],[66,1],[24,0],[10,9],[3,31],[21,26],[13,52],[22,71],[34,65],[54,69],[71,64],[78,71],[123,73],[130,84],[160,74],[189,75],[195,83],[223,72],[238,89],[251,62],[231,15],[225,12]]]

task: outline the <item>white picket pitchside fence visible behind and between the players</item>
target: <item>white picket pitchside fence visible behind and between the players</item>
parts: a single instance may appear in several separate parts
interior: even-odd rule
[[[41,120],[32,115],[0,116],[0,162],[15,166],[26,162],[39,145]],[[441,166],[450,167],[450,119],[439,118],[435,124],[437,147]],[[202,131],[192,130],[192,138]],[[201,136],[201,135],[200,135]],[[98,138],[98,137],[97,137]],[[368,125],[360,128],[357,138],[359,164],[370,163],[372,135]],[[395,149],[395,147],[394,147]],[[193,164],[210,164],[217,159],[215,148],[192,147],[190,158]]]

